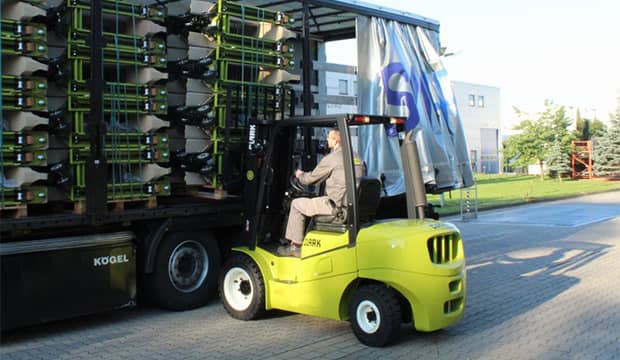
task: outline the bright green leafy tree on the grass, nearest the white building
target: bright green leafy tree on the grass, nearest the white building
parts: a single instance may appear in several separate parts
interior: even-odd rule
[[[504,159],[518,166],[536,162],[540,166],[540,176],[544,179],[543,161],[553,144],[557,142],[563,153],[570,152],[570,143],[574,137],[567,128],[571,120],[565,108],[555,105],[551,100],[545,100],[545,110],[533,119],[518,108],[514,110],[524,120],[515,127],[521,133],[506,140]]]

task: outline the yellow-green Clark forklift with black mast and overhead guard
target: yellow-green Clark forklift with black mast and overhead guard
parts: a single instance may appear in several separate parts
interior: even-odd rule
[[[458,229],[429,219],[417,148],[404,118],[339,115],[301,117],[255,129],[263,156],[246,172],[245,244],[234,247],[219,279],[228,313],[241,320],[280,309],[348,320],[357,338],[384,346],[402,323],[434,331],[463,317],[466,274]],[[346,203],[333,215],[308,219],[299,258],[278,256],[291,201],[322,195],[294,176],[313,167],[325,146],[322,134],[341,134]],[[382,196],[380,173],[355,176],[354,154],[368,129],[383,128],[398,141],[406,193]],[[261,140],[262,134],[262,140]],[[370,147],[366,147],[366,152]],[[365,155],[368,156],[366,153]],[[308,162],[307,160],[314,159]],[[400,208],[395,211],[395,208]],[[398,217],[393,217],[395,214]]]

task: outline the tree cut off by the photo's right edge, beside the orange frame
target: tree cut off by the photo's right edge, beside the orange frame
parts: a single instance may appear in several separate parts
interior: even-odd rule
[[[594,142],[594,174],[620,175],[620,97],[607,132]]]

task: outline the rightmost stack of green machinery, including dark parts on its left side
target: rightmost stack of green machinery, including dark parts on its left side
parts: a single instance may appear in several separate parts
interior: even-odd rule
[[[289,116],[296,38],[287,15],[230,1],[169,4],[169,118],[184,126],[173,164],[189,188],[241,189],[250,121]],[[204,192],[203,192],[204,193]]]

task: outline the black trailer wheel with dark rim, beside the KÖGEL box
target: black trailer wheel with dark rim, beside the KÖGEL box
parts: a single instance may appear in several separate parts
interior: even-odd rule
[[[209,234],[170,234],[162,240],[155,269],[147,277],[150,297],[171,310],[202,306],[216,294],[220,263],[217,242]]]

